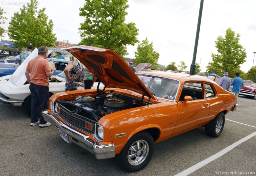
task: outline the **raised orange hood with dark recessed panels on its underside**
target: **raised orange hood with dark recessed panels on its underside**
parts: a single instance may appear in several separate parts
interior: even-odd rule
[[[107,87],[128,89],[156,100],[115,51],[84,45],[61,50],[66,50],[78,58]]]

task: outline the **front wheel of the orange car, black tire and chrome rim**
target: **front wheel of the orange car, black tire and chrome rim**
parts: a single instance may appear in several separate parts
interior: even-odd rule
[[[146,131],[132,136],[119,154],[121,167],[126,172],[135,172],[148,165],[154,153],[153,137]]]

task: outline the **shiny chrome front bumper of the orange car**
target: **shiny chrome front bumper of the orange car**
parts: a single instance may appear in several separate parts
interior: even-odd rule
[[[69,143],[75,143],[80,147],[91,152],[97,159],[107,159],[115,157],[115,145],[101,145],[89,136],[76,131],[67,125],[63,124],[56,116],[50,114],[48,111],[42,111],[42,115],[45,121],[51,122],[56,128],[60,129],[68,135]]]

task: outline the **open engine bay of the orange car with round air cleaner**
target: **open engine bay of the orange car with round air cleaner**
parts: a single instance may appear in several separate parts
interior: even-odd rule
[[[78,96],[75,100],[60,100],[57,103],[58,106],[62,106],[60,109],[68,109],[72,114],[75,113],[96,122],[107,114],[148,104],[140,99],[114,92],[100,94],[94,98],[87,95]]]

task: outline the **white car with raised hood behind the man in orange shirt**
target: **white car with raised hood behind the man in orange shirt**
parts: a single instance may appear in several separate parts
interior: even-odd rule
[[[24,106],[24,109],[28,114],[30,114],[31,111],[31,96],[25,71],[28,61],[36,55],[37,49],[35,49],[24,62],[22,62],[19,68],[12,75],[0,77],[0,102],[13,106]],[[56,76],[50,77],[50,97],[55,93],[64,92],[65,82],[66,76],[64,71]],[[94,83],[92,89],[96,89],[97,84],[98,83]],[[99,88],[101,89],[103,87],[104,85],[100,83]]]

